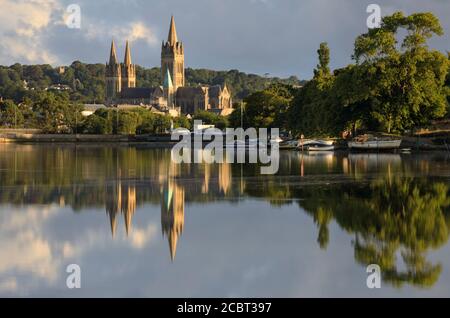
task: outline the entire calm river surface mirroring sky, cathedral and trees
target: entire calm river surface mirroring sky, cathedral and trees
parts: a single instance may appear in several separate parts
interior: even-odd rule
[[[449,189],[445,153],[282,152],[261,176],[168,150],[0,145],[0,296],[450,296]]]

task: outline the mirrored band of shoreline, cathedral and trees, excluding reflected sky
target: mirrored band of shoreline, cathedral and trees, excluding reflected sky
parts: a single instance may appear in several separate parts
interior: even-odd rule
[[[428,257],[449,238],[445,155],[283,152],[279,173],[262,176],[256,164],[177,165],[169,151],[156,149],[0,145],[0,150],[2,205],[57,204],[76,213],[100,208],[113,239],[119,218],[130,236],[139,207],[159,205],[172,261],[189,218],[187,204],[226,201],[239,209],[242,200],[253,198],[269,202],[274,213],[297,205],[317,225],[323,250],[333,240],[329,228],[335,222],[352,236],[355,261],[379,264],[393,286],[431,287],[450,266]]]

